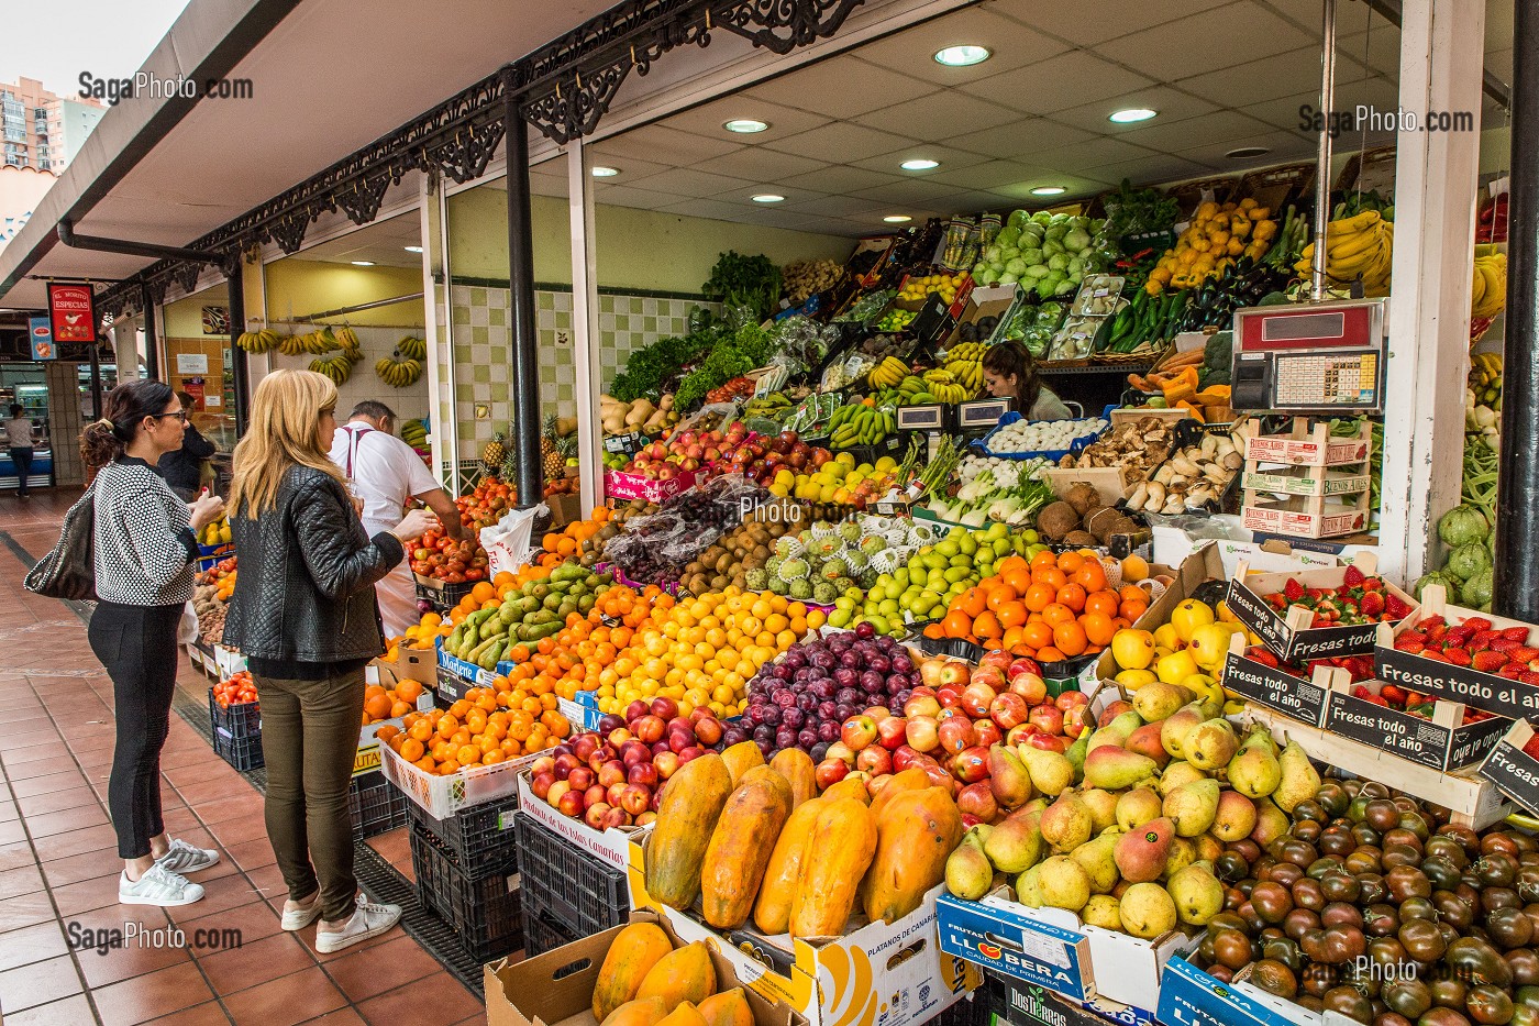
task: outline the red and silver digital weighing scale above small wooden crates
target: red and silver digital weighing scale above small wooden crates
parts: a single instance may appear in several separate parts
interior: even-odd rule
[[[1234,311],[1234,410],[1384,410],[1388,300],[1251,307]]]

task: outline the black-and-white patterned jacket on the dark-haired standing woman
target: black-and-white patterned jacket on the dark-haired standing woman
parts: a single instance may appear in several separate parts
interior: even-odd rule
[[[123,605],[189,601],[199,552],[188,504],[132,456],[103,467],[92,487],[97,596]]]

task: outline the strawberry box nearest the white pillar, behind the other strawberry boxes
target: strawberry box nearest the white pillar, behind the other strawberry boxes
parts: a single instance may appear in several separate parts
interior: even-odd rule
[[[1353,562],[1365,575],[1373,576],[1377,561],[1371,556],[1357,556]],[[1368,655],[1373,652],[1377,624],[1354,624],[1348,627],[1310,627],[1314,613],[1304,607],[1290,607],[1287,616],[1277,613],[1262,596],[1282,592],[1290,579],[1296,579],[1307,588],[1337,588],[1347,575],[1347,567],[1330,570],[1305,570],[1302,573],[1248,573],[1250,565],[1240,562],[1234,578],[1230,581],[1230,593],[1225,599],[1230,612],[1256,632],[1262,642],[1277,653],[1285,662],[1304,662],[1307,659],[1324,659],[1327,656]],[[1388,581],[1384,584],[1387,595],[1394,595],[1405,602],[1416,616],[1416,599],[1394,587]]]

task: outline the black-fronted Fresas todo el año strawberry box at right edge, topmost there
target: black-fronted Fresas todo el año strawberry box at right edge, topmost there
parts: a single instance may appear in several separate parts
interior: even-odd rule
[[[1393,630],[1382,625],[1374,635],[1373,670],[1379,679],[1424,695],[1451,698],[1510,719],[1539,718],[1539,687],[1533,684],[1510,681],[1496,673],[1482,673],[1467,666],[1439,662],[1394,647],[1396,636],[1414,630],[1416,624],[1428,616],[1442,616],[1451,625],[1462,624],[1471,616],[1482,616],[1491,621],[1496,629],[1528,627],[1527,644],[1534,639],[1534,629],[1530,624],[1450,605],[1447,590],[1442,585],[1433,585],[1422,592],[1422,605],[1413,616],[1402,619]]]

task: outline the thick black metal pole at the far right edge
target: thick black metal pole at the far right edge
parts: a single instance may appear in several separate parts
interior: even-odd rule
[[[1539,123],[1539,11],[1519,3],[1513,28],[1513,139]],[[1525,128],[1527,126],[1527,128]],[[1507,208],[1507,331],[1502,339],[1502,451],[1496,484],[1496,581],[1502,616],[1539,615],[1539,154],[1513,145]]]

